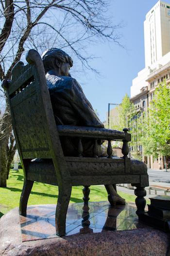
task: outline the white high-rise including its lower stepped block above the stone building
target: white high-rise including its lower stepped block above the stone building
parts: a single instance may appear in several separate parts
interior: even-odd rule
[[[148,76],[170,62],[170,3],[158,1],[144,21],[145,68],[131,86],[131,98],[148,86]]]

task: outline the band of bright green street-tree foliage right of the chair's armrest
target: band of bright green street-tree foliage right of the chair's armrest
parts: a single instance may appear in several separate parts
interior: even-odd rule
[[[137,112],[127,94],[117,109],[119,119],[116,124],[113,119],[112,129],[129,129],[132,135],[132,157],[142,158],[140,145],[144,156],[153,155],[153,158],[157,158],[170,155],[170,86],[166,81],[155,88],[153,100],[146,112]]]

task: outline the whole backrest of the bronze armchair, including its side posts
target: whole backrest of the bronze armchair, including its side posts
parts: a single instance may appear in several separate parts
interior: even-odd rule
[[[20,157],[64,158],[42,59],[35,50],[30,50],[26,59],[27,65],[21,61],[15,65],[7,86]]]

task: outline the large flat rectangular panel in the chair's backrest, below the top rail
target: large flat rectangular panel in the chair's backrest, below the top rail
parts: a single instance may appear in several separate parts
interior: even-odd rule
[[[15,129],[23,158],[51,158],[47,120],[35,81],[11,99]]]

